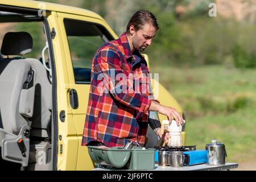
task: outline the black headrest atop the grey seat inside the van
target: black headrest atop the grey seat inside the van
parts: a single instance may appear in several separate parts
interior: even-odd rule
[[[26,55],[32,51],[33,40],[28,32],[7,32],[3,38],[2,55]]]

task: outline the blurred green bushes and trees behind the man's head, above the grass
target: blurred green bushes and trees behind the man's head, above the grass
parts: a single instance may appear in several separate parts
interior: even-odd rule
[[[256,25],[221,16],[209,17],[208,5],[214,0],[54,2],[95,11],[118,35],[125,31],[135,11],[150,10],[160,25],[152,45],[145,51],[150,56],[151,65],[233,64],[239,68],[255,68],[256,43],[253,38]],[[181,16],[177,15],[177,6],[187,8]]]

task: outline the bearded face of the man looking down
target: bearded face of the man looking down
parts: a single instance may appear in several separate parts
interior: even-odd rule
[[[133,32],[131,29],[133,29],[132,26],[130,27],[130,32]],[[134,34],[131,35],[133,47],[138,51],[144,51],[147,46],[151,45],[155,34],[156,28],[151,23],[144,24],[140,30],[134,31]]]

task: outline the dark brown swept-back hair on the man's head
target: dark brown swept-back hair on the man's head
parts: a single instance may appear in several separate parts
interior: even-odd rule
[[[148,10],[139,10],[137,11],[130,19],[126,27],[126,34],[130,34],[130,26],[134,26],[135,31],[140,30],[144,24],[151,23],[156,30],[159,29],[158,22],[155,16],[150,13]]]

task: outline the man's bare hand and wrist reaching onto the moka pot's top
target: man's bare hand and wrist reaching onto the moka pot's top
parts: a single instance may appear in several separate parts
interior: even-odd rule
[[[183,125],[183,118],[177,112],[176,109],[168,106],[159,104],[158,102],[152,101],[149,110],[158,111],[158,113],[166,115],[169,120],[169,125],[172,122],[172,119],[175,119],[177,126]]]

